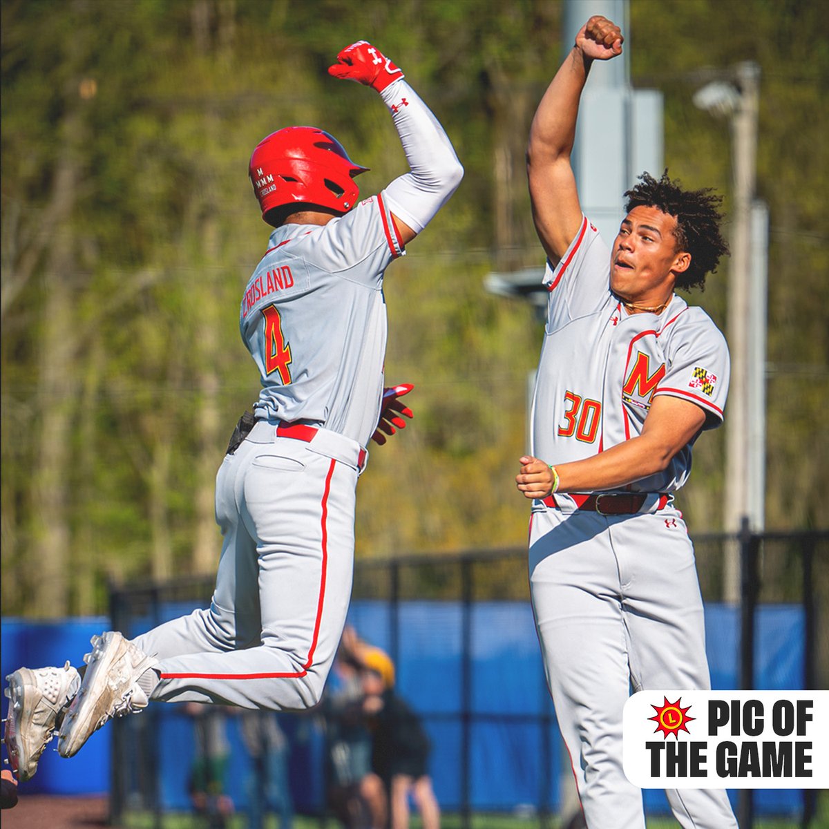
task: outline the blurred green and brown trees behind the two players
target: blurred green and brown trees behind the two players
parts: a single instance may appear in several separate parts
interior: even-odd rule
[[[513,484],[541,325],[486,293],[543,264],[526,134],[561,59],[556,0],[2,0],[2,608],[105,610],[109,579],[212,572],[213,486],[258,378],[238,303],[264,253],[255,143],[313,124],[405,172],[381,101],[327,65],[367,39],[403,67],[466,168],[386,279],[389,381],[415,419],[371,453],[357,555],[522,545]],[[665,95],[666,162],[730,204],[705,67],[762,70],[771,213],[767,525],[827,526],[829,41],[817,0],[631,0],[633,85]],[[618,125],[608,124],[608,128]],[[660,171],[655,171],[660,172]],[[620,194],[621,195],[621,194]],[[726,227],[728,230],[728,227]],[[691,294],[725,327],[728,264]],[[680,495],[721,523],[722,430]]]

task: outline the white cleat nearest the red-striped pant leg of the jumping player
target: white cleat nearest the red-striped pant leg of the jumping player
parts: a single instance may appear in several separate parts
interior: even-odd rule
[[[138,686],[138,677],[154,667],[153,657],[128,642],[117,631],[108,631],[91,640],[84,681],[69,706],[58,735],[61,757],[73,757],[102,725],[146,708],[147,695]]]

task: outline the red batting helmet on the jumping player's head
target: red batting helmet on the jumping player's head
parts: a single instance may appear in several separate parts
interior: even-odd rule
[[[352,162],[337,138],[322,129],[287,127],[256,145],[249,175],[265,219],[274,207],[293,204],[347,213],[360,195],[354,177],[367,169]]]

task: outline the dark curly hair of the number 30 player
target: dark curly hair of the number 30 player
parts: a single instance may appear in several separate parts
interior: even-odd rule
[[[720,234],[722,196],[710,187],[683,190],[681,183],[671,181],[668,171],[657,180],[648,172],[639,176],[637,184],[625,192],[625,211],[634,207],[656,207],[676,219],[676,250],[691,254],[691,264],[676,279],[676,288],[705,288],[705,275],[713,274],[720,256],[729,255],[728,245]]]

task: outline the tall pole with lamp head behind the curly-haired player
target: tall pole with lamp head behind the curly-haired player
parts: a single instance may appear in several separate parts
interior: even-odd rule
[[[731,163],[734,169],[733,225],[731,235],[731,266],[728,295],[728,341],[731,355],[731,382],[728,416],[725,419],[725,530],[739,532],[743,518],[749,529],[763,527],[762,492],[764,485],[764,420],[763,413],[754,411],[764,394],[758,385],[764,384],[764,354],[758,360],[758,334],[762,351],[765,350],[765,286],[759,297],[757,281],[764,271],[756,273],[759,263],[765,268],[765,257],[754,253],[752,243],[752,211],[757,156],[757,122],[759,112],[759,65],[740,63],[729,73],[729,80],[715,80],[694,95],[700,109],[731,121]],[[755,220],[762,227],[763,218]],[[753,284],[754,283],[754,284]],[[758,305],[762,304],[762,319]],[[726,546],[724,562],[724,598],[739,601],[739,547]]]

